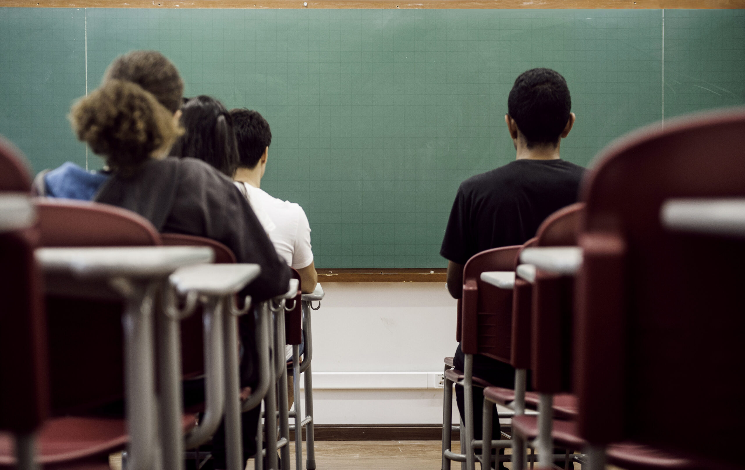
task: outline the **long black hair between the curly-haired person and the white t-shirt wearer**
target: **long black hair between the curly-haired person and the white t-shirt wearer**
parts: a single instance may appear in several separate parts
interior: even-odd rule
[[[181,112],[186,133],[171,147],[171,155],[199,158],[232,178],[238,169],[238,144],[223,103],[200,95],[184,103]]]

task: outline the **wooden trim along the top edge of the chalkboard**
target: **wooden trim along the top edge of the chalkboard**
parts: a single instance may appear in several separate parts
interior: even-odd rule
[[[307,6],[305,5],[307,3]],[[0,7],[57,8],[375,8],[660,9],[745,8],[745,0],[0,0]]]

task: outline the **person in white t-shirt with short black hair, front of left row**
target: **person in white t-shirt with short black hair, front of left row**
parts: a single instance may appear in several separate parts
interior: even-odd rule
[[[272,141],[269,123],[249,109],[231,109],[230,115],[240,156],[233,176],[235,185],[248,199],[277,254],[299,272],[302,292],[313,292],[318,276],[311,251],[311,226],[305,211],[294,202],[282,201],[261,189]]]

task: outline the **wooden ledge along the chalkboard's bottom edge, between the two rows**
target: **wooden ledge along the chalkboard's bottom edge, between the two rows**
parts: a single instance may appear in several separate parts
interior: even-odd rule
[[[444,283],[445,268],[316,269],[319,283]]]

